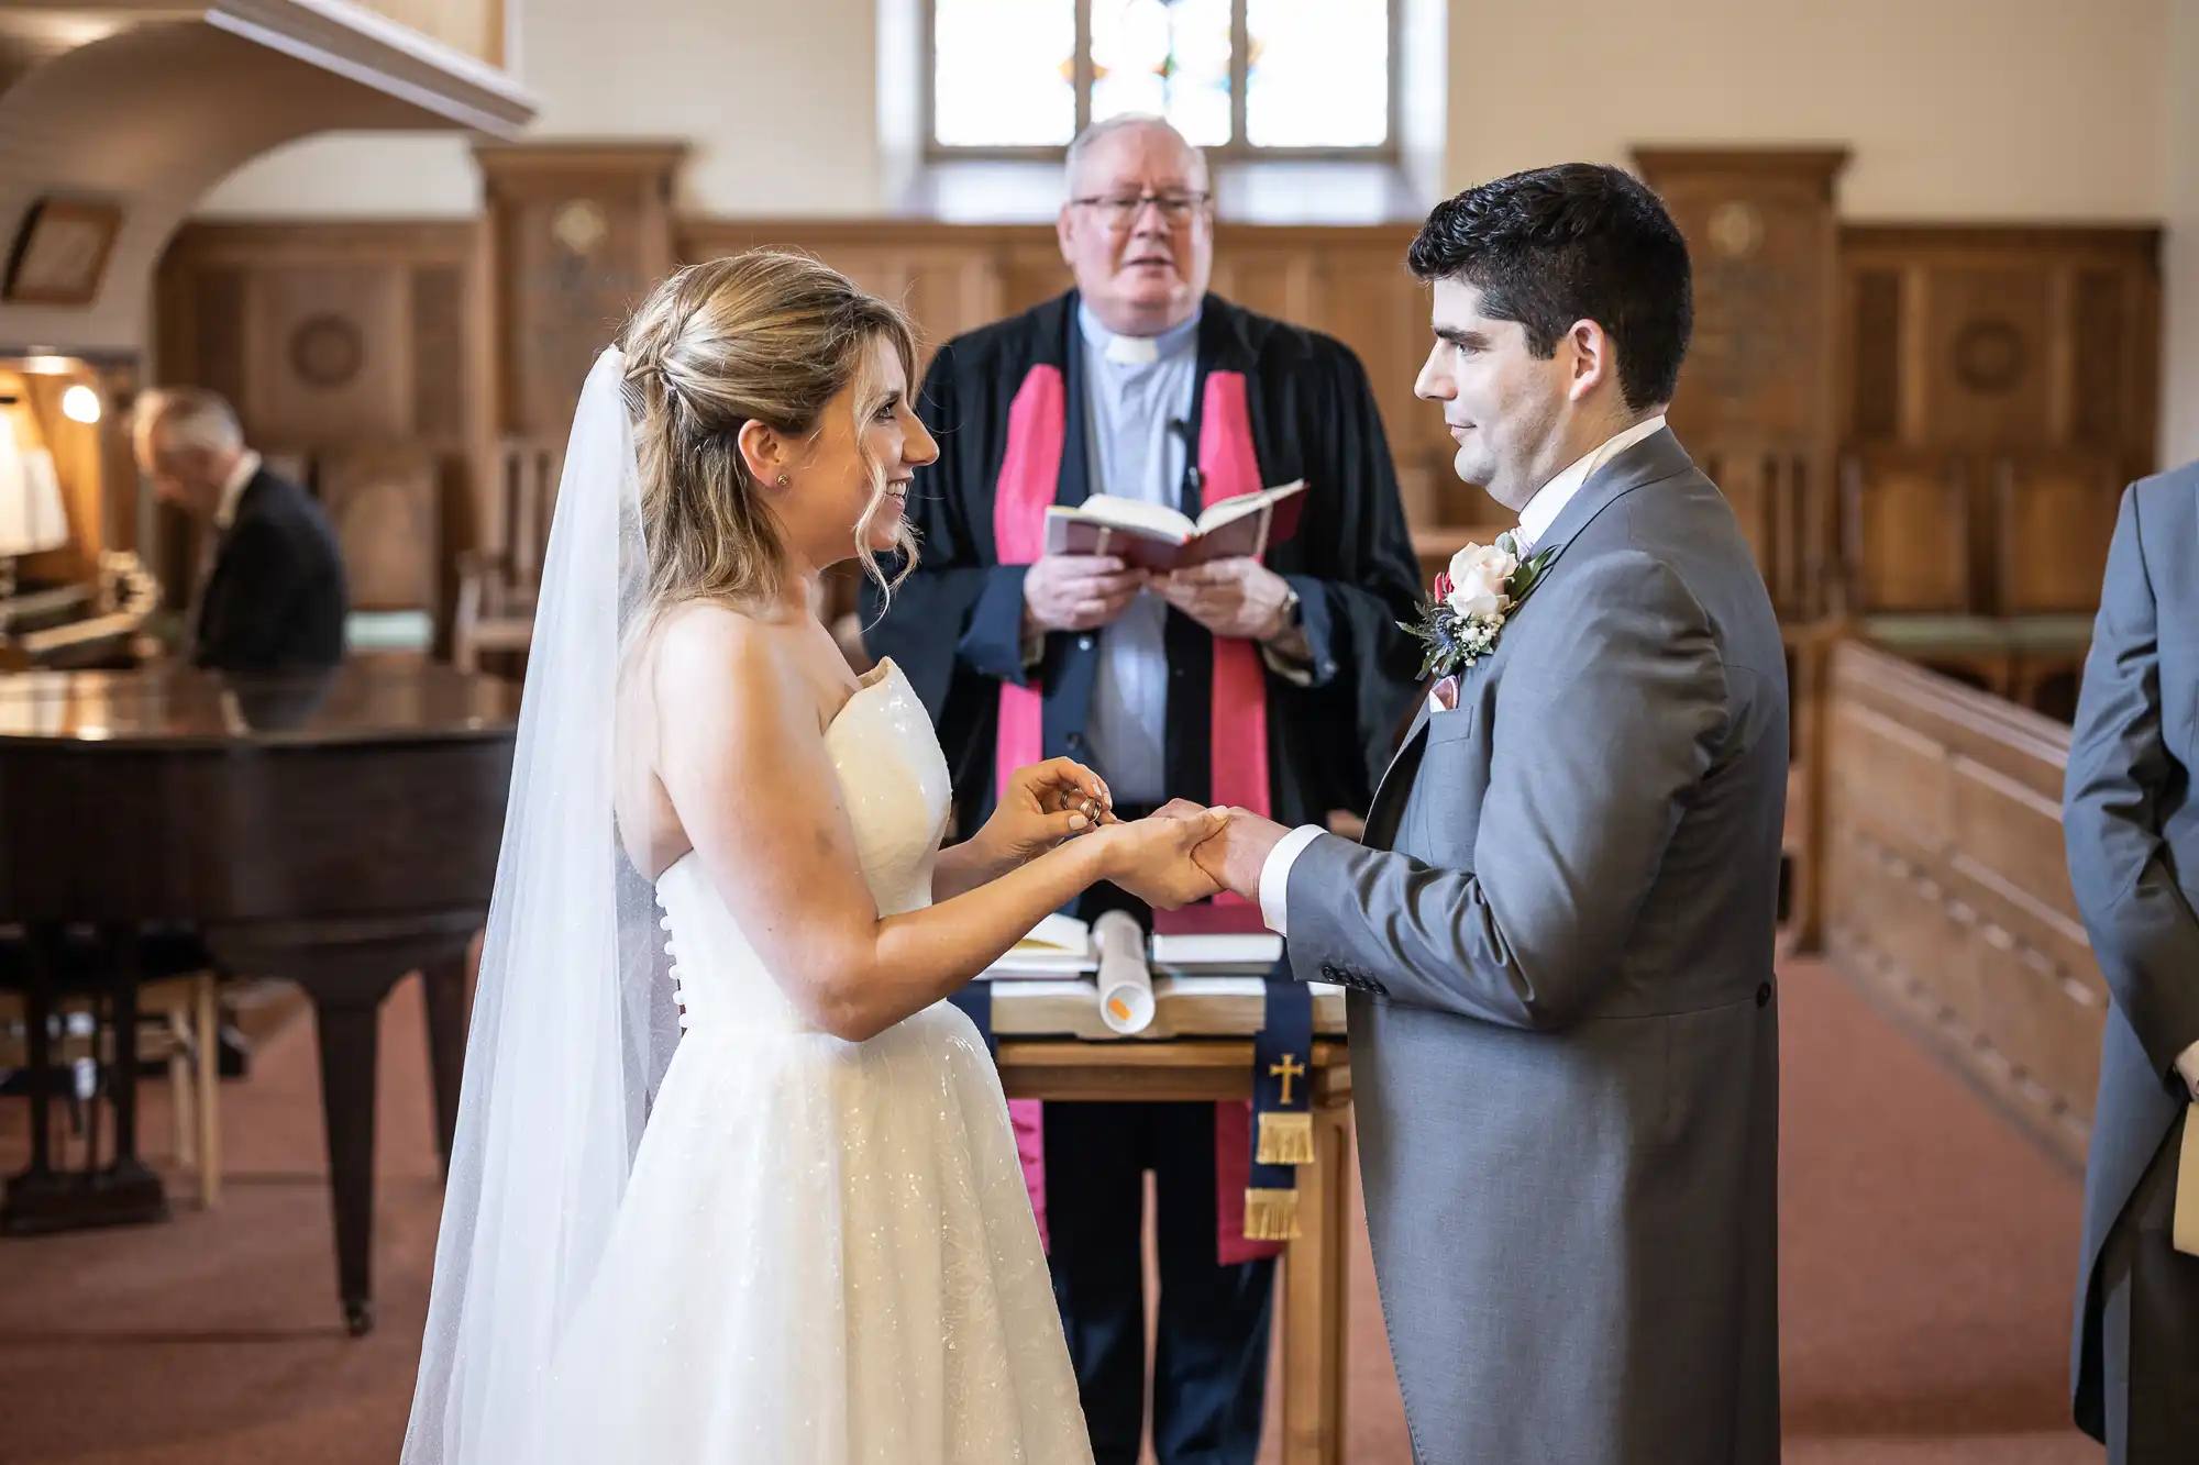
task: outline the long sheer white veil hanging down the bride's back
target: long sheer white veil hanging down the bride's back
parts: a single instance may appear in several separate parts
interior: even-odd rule
[[[559,480],[405,1465],[519,1461],[677,1038],[653,893],[611,805],[647,579],[622,378],[605,350]]]

